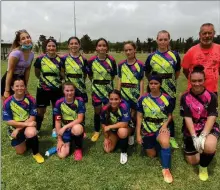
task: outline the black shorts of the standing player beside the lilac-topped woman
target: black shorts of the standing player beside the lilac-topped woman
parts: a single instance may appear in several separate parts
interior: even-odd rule
[[[42,89],[37,88],[37,95],[36,95],[36,101],[37,101],[37,107],[38,108],[44,108],[50,105],[50,102],[52,104],[55,104],[58,99],[60,99],[63,96],[62,89],[54,90],[54,91],[44,91]]]

